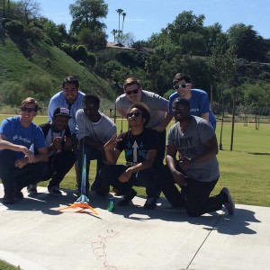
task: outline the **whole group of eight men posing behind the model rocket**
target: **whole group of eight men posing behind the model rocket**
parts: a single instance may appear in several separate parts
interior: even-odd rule
[[[127,78],[115,106],[129,130],[118,135],[115,123],[99,110],[100,98],[79,91],[76,77],[64,79],[63,89],[49,102],[49,122],[40,127],[32,122],[38,103],[25,99],[21,115],[5,119],[0,126],[3,202],[23,198],[25,186],[36,192],[36,184],[45,180],[49,193],[61,194],[59,184],[74,165],[79,193],[85,157],[86,192],[91,189],[104,196],[112,186],[122,195],[120,206],[136,196],[133,186],[144,186],[145,209],[156,208],[162,192],[172,206],[168,211],[200,216],[224,205],[233,214],[228,188],[210,197],[220,171],[216,121],[208,95],[194,89],[186,74],[177,73],[173,85],[175,93],[166,100],[143,90],[136,77]],[[173,117],[175,124],[166,136]],[[125,165],[118,164],[121,152]],[[96,175],[90,186],[91,160],[96,160]]]

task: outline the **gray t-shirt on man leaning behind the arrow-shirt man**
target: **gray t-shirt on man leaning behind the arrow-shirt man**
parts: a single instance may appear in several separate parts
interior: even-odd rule
[[[168,110],[168,101],[153,92],[142,90],[141,103],[145,103],[150,111],[150,121],[148,122],[148,128],[157,127],[165,118],[165,114]],[[126,94],[121,94],[115,101],[116,109],[128,112],[130,105],[132,104],[127,98]]]

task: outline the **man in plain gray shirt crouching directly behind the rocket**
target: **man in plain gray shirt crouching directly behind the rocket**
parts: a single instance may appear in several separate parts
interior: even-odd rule
[[[99,171],[103,166],[103,145],[116,133],[114,122],[99,111],[100,99],[94,94],[85,94],[83,109],[76,112],[76,134],[79,141],[77,163],[78,179],[82,179],[83,162],[86,157],[86,195],[89,191],[89,169],[91,160],[96,159],[96,175],[91,185],[100,195],[109,193],[109,184],[103,184],[99,177]],[[78,193],[81,182],[77,183]]]

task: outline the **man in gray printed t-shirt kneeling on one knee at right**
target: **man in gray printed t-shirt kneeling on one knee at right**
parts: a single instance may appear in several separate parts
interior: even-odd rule
[[[173,208],[184,207],[192,217],[218,211],[222,204],[229,214],[235,204],[227,187],[219,194],[210,193],[220,177],[218,142],[211,123],[190,115],[187,99],[176,98],[173,103],[175,125],[168,131],[166,140],[166,168],[160,177],[161,190]],[[179,160],[176,159],[177,153]],[[181,192],[175,184],[181,187]]]

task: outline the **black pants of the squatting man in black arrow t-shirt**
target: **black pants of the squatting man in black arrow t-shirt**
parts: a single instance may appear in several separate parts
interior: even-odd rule
[[[125,195],[130,193],[133,185],[146,187],[148,197],[157,195],[157,178],[153,168],[134,173],[128,182],[121,183],[118,178],[126,169],[127,166],[123,165],[105,165],[100,171],[100,177]]]

